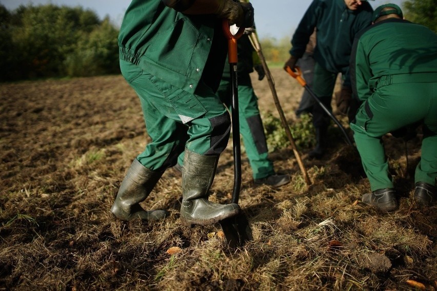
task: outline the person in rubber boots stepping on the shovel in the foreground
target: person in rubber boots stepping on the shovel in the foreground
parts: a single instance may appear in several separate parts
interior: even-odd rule
[[[215,91],[227,54],[223,18],[253,25],[249,3],[232,0],[133,0],[118,35],[123,77],[140,98],[151,142],[132,162],[111,212],[122,220],[162,219],[144,201],[185,150],[181,217],[212,224],[240,212],[238,204],[208,200],[230,116]]]

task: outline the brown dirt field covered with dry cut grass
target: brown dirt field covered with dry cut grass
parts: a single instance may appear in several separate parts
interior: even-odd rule
[[[282,69],[272,74],[292,124],[303,89]],[[278,117],[267,80],[253,77],[262,115]],[[271,153],[275,170],[292,178],[279,189],[254,185],[243,154],[240,204],[254,239],[231,250],[220,225],[181,224],[173,169],[142,203],[168,210],[164,221],[110,213],[149,141],[121,76],[0,84],[0,96],[1,290],[414,290],[408,280],[437,288],[437,207],[411,199],[420,129],[407,143],[408,167],[403,139],[384,137],[400,195],[390,214],[360,202],[369,182],[335,127],[324,159],[300,149],[308,189],[289,148]],[[229,142],[210,200],[230,203],[232,180]]]

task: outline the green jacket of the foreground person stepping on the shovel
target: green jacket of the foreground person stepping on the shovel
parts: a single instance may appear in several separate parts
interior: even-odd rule
[[[215,91],[227,53],[221,24],[215,15],[187,15],[158,0],[133,0],[118,35],[120,59],[189,93],[201,80]]]

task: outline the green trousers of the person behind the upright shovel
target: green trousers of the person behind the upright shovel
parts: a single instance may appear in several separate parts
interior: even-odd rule
[[[223,78],[217,90],[217,96],[231,108],[232,90],[230,80]],[[257,97],[253,91],[250,75],[239,73],[238,97],[240,115],[240,134],[243,137],[246,155],[252,168],[253,179],[262,179],[274,175],[273,163],[268,158],[266,136],[258,108]],[[178,158],[183,163],[183,155]]]

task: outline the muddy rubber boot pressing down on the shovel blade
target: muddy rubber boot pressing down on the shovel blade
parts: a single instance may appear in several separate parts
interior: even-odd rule
[[[181,217],[187,224],[214,224],[240,212],[238,204],[222,205],[208,200],[217,162],[218,156],[199,155],[185,149]]]

